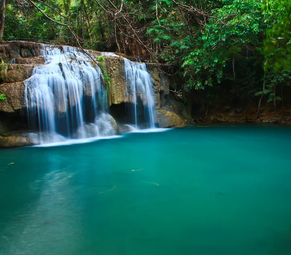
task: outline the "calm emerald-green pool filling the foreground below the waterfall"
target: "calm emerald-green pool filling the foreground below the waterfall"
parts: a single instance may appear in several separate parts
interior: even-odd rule
[[[0,150],[0,255],[290,255],[290,142],[189,127]]]

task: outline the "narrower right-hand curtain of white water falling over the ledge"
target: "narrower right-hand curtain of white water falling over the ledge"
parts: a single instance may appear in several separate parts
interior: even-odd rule
[[[150,74],[146,70],[146,64],[141,62],[131,62],[124,58],[125,76],[127,86],[127,96],[129,101],[134,104],[135,127],[138,128],[137,120],[137,100],[142,100],[143,105],[147,106],[148,118],[151,128],[155,127],[154,116],[154,95],[153,84]]]

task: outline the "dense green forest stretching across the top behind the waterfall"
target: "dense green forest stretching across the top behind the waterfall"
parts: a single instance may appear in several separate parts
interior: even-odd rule
[[[290,0],[34,1],[43,13],[20,2],[8,1],[4,40],[49,40],[167,63],[184,92],[279,100],[276,88],[290,83]],[[109,88],[103,56],[97,61]],[[0,74],[5,68],[0,64]]]

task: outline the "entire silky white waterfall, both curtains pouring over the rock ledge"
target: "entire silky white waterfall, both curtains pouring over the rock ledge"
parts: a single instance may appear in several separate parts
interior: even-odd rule
[[[69,139],[107,137],[118,133],[109,112],[109,89],[104,85],[100,67],[90,51],[63,46],[42,45],[45,64],[35,66],[25,80],[27,116],[36,143],[59,143]],[[104,53],[105,57],[119,57]],[[135,128],[138,128],[137,104],[143,103],[149,126],[154,127],[154,96],[146,64],[126,58],[126,93],[134,103]]]

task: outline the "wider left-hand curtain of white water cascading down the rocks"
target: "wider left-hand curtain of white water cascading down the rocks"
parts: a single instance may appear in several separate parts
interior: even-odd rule
[[[40,131],[39,142],[113,135],[113,128],[98,130],[100,119],[110,123],[106,114],[98,114],[108,110],[108,91],[102,85],[100,68],[73,47],[44,45],[42,55],[46,64],[36,66],[32,77],[25,80],[28,118]]]

